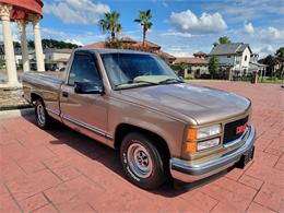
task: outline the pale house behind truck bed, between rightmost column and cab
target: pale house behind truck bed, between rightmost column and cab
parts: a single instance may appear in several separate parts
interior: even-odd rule
[[[72,51],[73,49],[46,48],[44,50],[46,70],[56,71],[66,68]]]

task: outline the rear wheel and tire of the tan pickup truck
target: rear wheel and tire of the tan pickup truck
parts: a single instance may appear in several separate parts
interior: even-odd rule
[[[37,99],[35,102],[35,115],[37,126],[44,130],[49,129],[51,118],[48,116],[44,102],[42,99]]]

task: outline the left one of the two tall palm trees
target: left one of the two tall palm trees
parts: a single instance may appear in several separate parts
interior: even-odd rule
[[[118,21],[119,21],[119,13],[115,11],[105,13],[105,17],[98,21],[98,24],[103,33],[105,32],[110,33],[111,42],[116,39],[116,34],[120,33],[122,29],[122,26]]]

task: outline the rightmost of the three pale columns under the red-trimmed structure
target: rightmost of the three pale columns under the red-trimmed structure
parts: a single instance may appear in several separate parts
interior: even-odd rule
[[[43,52],[43,45],[42,45],[42,36],[40,36],[40,27],[39,27],[39,15],[33,15],[33,29],[34,29],[34,37],[35,37],[35,52],[36,52],[36,66],[37,71],[45,71],[45,59]]]

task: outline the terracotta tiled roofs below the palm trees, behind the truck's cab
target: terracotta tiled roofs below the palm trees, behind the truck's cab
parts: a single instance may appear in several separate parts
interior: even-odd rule
[[[167,63],[173,63],[176,59],[176,57],[163,51],[162,47],[159,45],[154,44],[152,42],[145,40],[145,44],[143,46],[142,42],[134,40],[130,37],[122,37],[120,40],[122,43],[122,48],[125,48],[125,49],[143,50],[146,48],[151,52],[159,56]],[[86,45],[84,47],[85,48],[106,48],[106,43],[98,42],[98,43],[93,43],[93,44]]]

